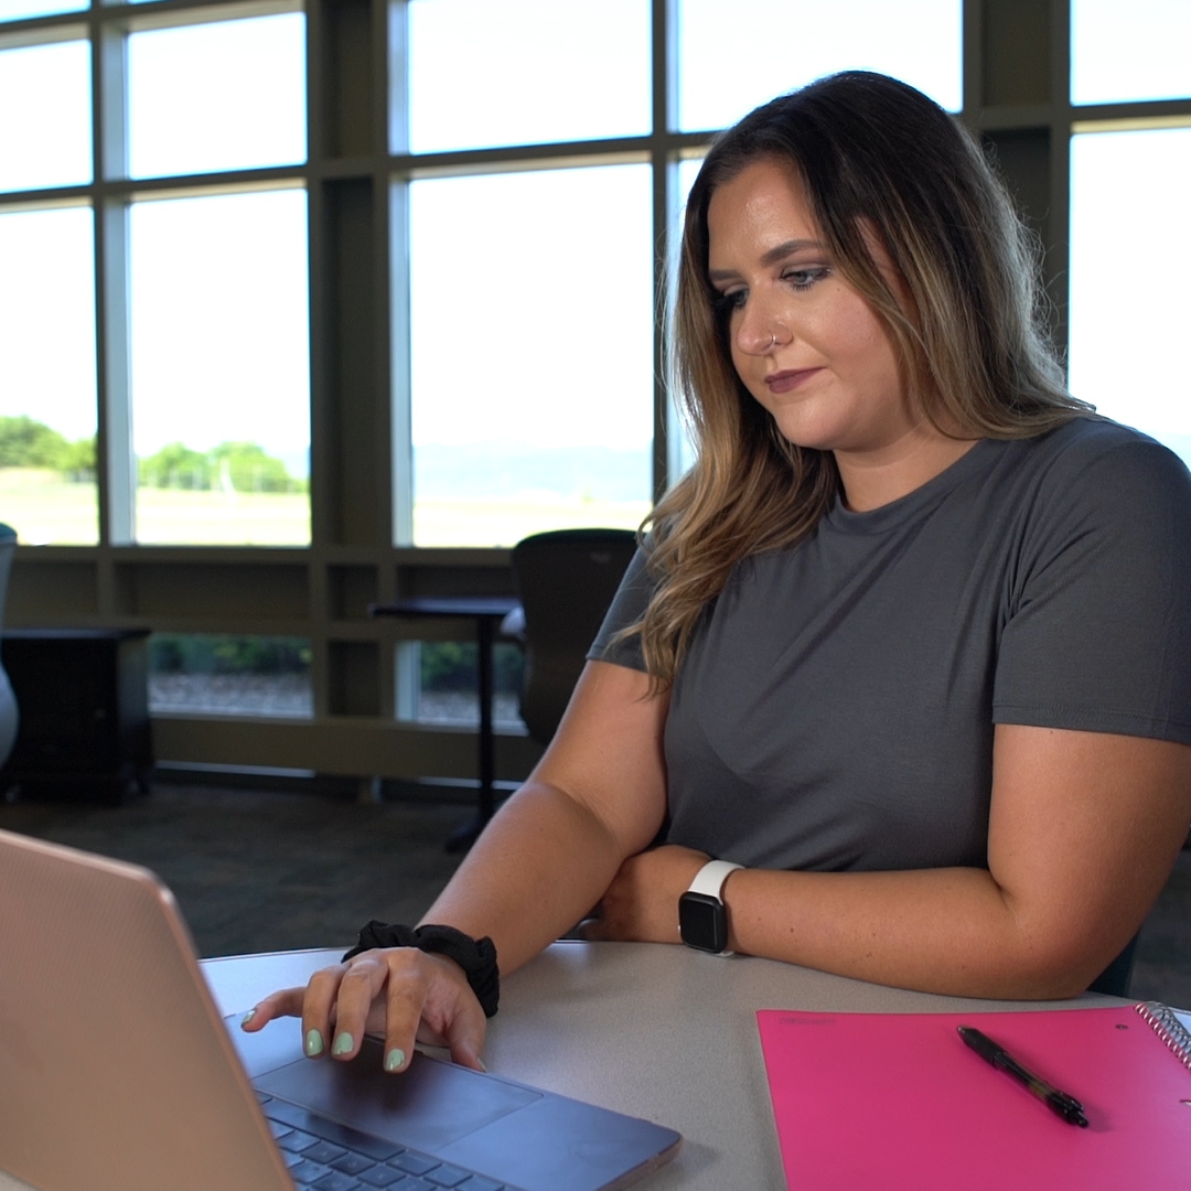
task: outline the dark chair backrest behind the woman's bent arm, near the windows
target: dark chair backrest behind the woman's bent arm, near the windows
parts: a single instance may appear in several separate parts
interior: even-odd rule
[[[636,548],[628,529],[555,530],[513,547],[525,611],[520,715],[534,740],[545,744],[554,736]]]

